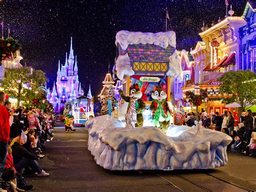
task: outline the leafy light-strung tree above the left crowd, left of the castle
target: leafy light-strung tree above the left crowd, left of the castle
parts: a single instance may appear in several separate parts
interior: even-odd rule
[[[37,95],[38,88],[46,81],[45,73],[32,70],[30,67],[8,68],[5,71],[1,86],[10,97],[17,98],[17,105],[21,100],[26,101]]]

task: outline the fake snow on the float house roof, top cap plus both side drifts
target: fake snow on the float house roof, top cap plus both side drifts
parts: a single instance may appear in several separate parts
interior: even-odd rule
[[[119,31],[116,35],[116,45],[120,45],[122,50],[125,52],[129,45],[138,44],[151,44],[155,46],[160,46],[163,49],[171,46],[175,49],[176,35],[173,31],[158,33]],[[170,52],[169,60],[169,70],[166,72],[166,75],[171,77],[177,77],[180,81],[182,81],[183,71],[181,69],[180,57],[177,50],[175,50],[173,53]],[[133,68],[131,66],[131,58],[127,52],[118,56],[115,67],[117,71],[117,77],[120,80],[123,80],[125,75],[132,76],[134,74]]]

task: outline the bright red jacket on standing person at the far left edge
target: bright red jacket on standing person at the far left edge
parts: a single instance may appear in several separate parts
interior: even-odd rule
[[[10,139],[10,123],[8,110],[0,105],[0,142],[8,143]]]

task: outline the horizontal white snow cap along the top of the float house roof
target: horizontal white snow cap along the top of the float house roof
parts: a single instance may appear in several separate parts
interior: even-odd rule
[[[163,48],[167,46],[176,47],[176,35],[174,31],[158,33],[119,31],[116,35],[116,45],[118,43],[123,50],[133,44],[154,44]]]

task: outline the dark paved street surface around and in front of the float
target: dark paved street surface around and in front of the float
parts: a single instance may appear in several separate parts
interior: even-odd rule
[[[61,126],[58,124],[57,127]],[[253,191],[256,159],[228,153],[228,164],[214,170],[117,172],[99,167],[87,150],[88,132],[56,128],[39,160],[49,177],[28,177],[33,191]]]

